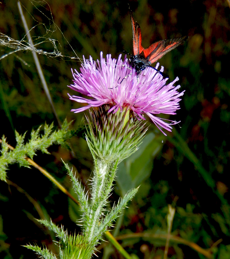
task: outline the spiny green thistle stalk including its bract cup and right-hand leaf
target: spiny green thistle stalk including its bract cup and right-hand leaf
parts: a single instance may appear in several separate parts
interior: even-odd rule
[[[127,196],[124,201],[121,200],[119,206],[114,206],[112,211],[106,209],[118,164],[135,152],[147,130],[145,122],[133,117],[130,111],[108,113],[109,109],[110,105],[104,105],[87,117],[89,129],[86,139],[94,158],[94,170],[90,210],[89,216],[85,217],[87,227],[84,235],[88,242],[95,244],[118,217],[122,210],[121,204],[126,205],[133,197],[133,194]],[[137,189],[134,193],[136,191]]]

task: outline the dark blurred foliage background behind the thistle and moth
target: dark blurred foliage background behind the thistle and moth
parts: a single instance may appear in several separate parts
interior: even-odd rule
[[[74,119],[72,128],[81,133],[71,138],[74,153],[56,145],[48,149],[51,155],[38,152],[34,161],[71,191],[62,158],[73,166],[88,189],[93,164],[82,134],[83,113],[70,112],[71,108],[80,107],[68,99],[68,92],[74,94],[67,87],[72,82],[70,68],[79,71],[83,55],[97,59],[103,51],[104,56],[111,53],[116,58],[122,49],[132,52],[127,2],[22,0],[21,3],[36,48],[53,53],[57,47],[62,54],[57,57],[40,54],[39,60],[60,120]],[[120,164],[110,197],[113,204],[126,190],[141,184],[112,232],[118,239],[122,237],[122,246],[129,254],[139,258],[163,258],[167,204],[176,207],[172,228],[175,239],[170,241],[168,258],[205,258],[200,248],[213,253],[212,258],[230,257],[228,3],[129,1],[141,27],[144,47],[161,39],[189,36],[186,43],[160,59],[169,80],[178,76],[181,91],[186,90],[181,109],[170,117],[181,122],[167,137],[150,124],[149,135],[138,153]],[[16,43],[26,41],[17,1],[1,1],[0,12],[1,35],[15,39]],[[11,146],[16,145],[15,129],[23,134],[45,121],[48,124],[54,121],[57,126],[31,51],[9,54],[14,50],[0,45],[0,136],[4,134]],[[71,58],[76,55],[79,59]],[[28,138],[26,134],[25,139]],[[11,165],[7,176],[8,184],[0,182],[1,258],[36,258],[34,252],[21,246],[28,243],[46,245],[53,253],[57,251],[53,233],[34,220],[41,215],[51,217],[55,224],[63,224],[72,233],[75,229],[76,233],[80,231],[75,224],[80,217],[78,206],[39,171]],[[220,239],[223,241],[219,244]],[[102,247],[101,253],[97,253],[99,258],[122,258],[108,244],[99,249]]]

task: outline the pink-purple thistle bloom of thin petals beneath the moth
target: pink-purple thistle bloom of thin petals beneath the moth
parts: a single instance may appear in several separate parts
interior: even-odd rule
[[[145,68],[137,77],[135,69],[130,68],[127,58],[122,61],[121,55],[119,55],[118,60],[107,55],[105,60],[102,55],[101,52],[100,62],[99,60],[93,61],[91,57],[89,60],[85,60],[83,57],[84,64],[80,68],[81,73],[78,73],[76,69],[75,73],[72,70],[74,84],[69,87],[93,99],[69,95],[70,100],[88,103],[87,106],[71,111],[79,113],[90,107],[111,104],[112,107],[108,112],[116,113],[119,109],[122,111],[123,108],[126,108],[132,110],[139,119],[145,119],[143,117],[145,113],[159,129],[162,127],[171,132],[170,125],[179,122],[159,118],[155,114],[176,114],[175,111],[180,109],[179,101],[181,99],[179,97],[185,91],[180,93],[177,91],[180,85],[173,85],[179,78],[177,77],[166,85],[168,78],[164,79],[158,71],[150,67]],[[159,63],[157,63],[156,68],[158,66]],[[164,68],[161,67],[160,71],[163,72],[163,70]],[[162,131],[162,129],[160,130]],[[164,135],[166,134],[164,133]]]

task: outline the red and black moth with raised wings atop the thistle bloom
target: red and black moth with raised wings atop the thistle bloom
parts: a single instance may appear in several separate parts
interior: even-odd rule
[[[157,41],[155,43],[152,43],[149,47],[145,49],[141,45],[141,28],[139,24],[134,21],[133,14],[130,9],[129,12],[133,31],[133,55],[129,54],[125,50],[123,50],[122,52],[130,56],[129,63],[133,68],[135,68],[137,75],[139,75],[141,71],[144,70],[147,66],[152,67],[152,63],[156,62],[158,59],[162,58],[167,52],[175,49],[177,46],[188,39],[188,36],[184,36]],[[158,72],[161,73],[160,71]]]

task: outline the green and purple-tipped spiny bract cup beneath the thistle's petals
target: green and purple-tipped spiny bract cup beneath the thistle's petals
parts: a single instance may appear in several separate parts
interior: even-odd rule
[[[145,122],[130,111],[108,113],[108,104],[90,112],[86,139],[94,160],[119,163],[134,153],[147,130]]]

